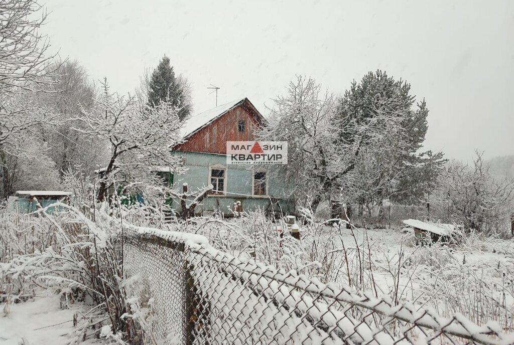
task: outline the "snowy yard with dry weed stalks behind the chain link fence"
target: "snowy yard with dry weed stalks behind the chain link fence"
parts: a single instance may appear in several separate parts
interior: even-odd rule
[[[251,259],[255,247],[256,260],[286,271],[514,331],[512,240],[471,233],[458,244],[418,246],[412,228],[352,232],[316,223],[302,225],[302,240],[296,242],[289,236],[279,240],[277,224],[252,217],[224,224],[206,220],[205,226],[198,221],[189,231],[239,258]]]

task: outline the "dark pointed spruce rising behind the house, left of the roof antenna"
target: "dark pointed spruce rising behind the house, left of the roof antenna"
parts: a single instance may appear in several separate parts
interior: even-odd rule
[[[179,85],[170,58],[162,57],[159,65],[152,72],[148,91],[148,105],[156,107],[161,102],[167,102],[171,106],[179,107],[178,118],[183,120],[189,116],[190,106],[186,102],[186,95]]]

